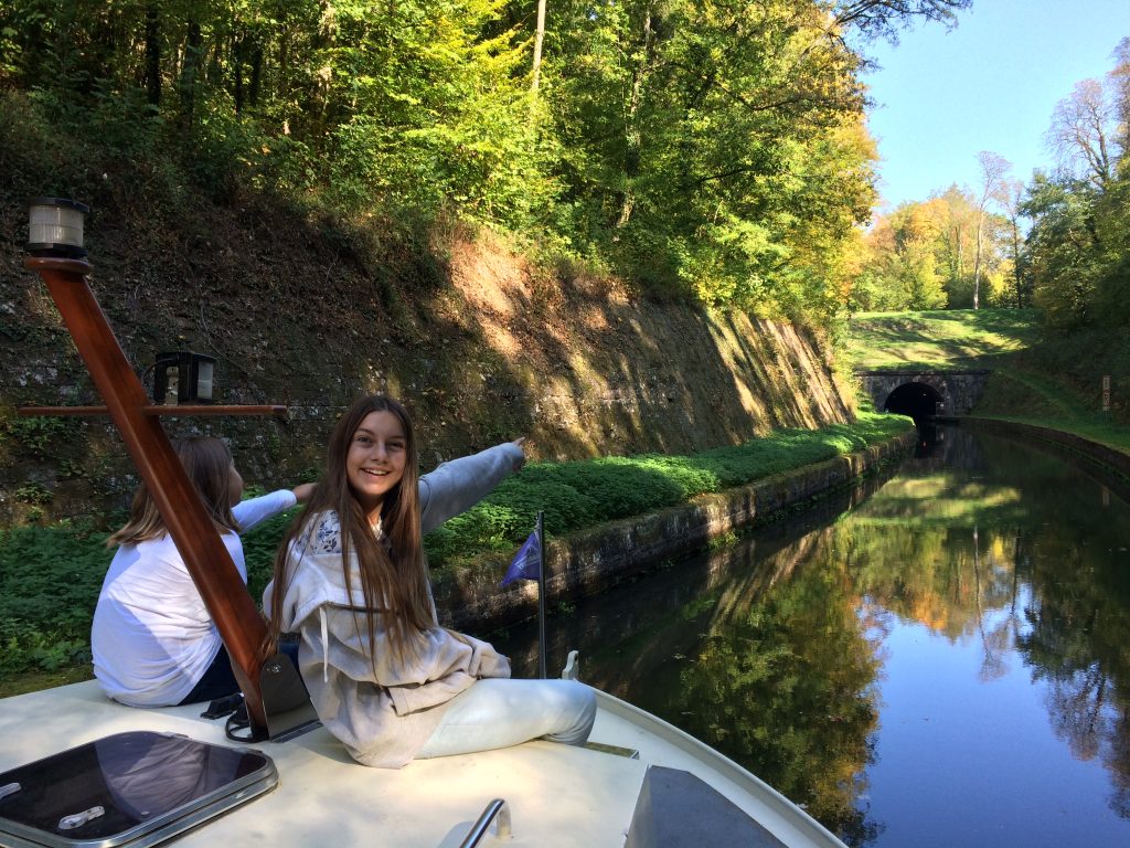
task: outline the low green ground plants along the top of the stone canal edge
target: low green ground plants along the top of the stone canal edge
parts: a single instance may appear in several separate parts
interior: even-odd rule
[[[690,457],[531,464],[481,504],[431,533],[425,547],[434,566],[486,551],[513,551],[539,509],[546,511],[547,531],[560,535],[859,450],[909,425],[899,416],[864,415],[854,425],[782,431]],[[249,588],[257,599],[292,518],[277,516],[243,537]],[[90,621],[108,562],[105,535],[75,523],[0,530],[0,675],[89,658]]]

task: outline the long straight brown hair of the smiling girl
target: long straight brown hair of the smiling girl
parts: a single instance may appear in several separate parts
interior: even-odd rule
[[[357,500],[346,471],[346,457],[354,434],[371,413],[386,412],[394,415],[405,431],[405,473],[400,482],[384,496],[381,504],[381,528],[388,538],[389,550],[370,526],[368,518]],[[420,539],[419,462],[416,457],[416,435],[408,412],[384,395],[373,395],[357,400],[333,427],[325,452],[325,475],[314,493],[287,530],[275,555],[275,583],[271,591],[271,625],[269,639],[273,644],[280,633],[282,602],[288,579],[287,564],[296,539],[312,529],[312,522],[322,513],[336,512],[341,528],[341,570],[348,587],[349,604],[365,617],[371,656],[376,649],[376,617],[383,615],[390,647],[398,659],[414,650],[417,637],[435,624],[427,585],[427,565]],[[299,543],[301,544],[301,543]],[[360,604],[353,594],[351,553],[356,553],[360,578]],[[296,569],[297,570],[297,564]],[[358,608],[359,607],[359,608]],[[356,615],[356,613],[355,613]],[[375,661],[375,659],[374,659]]]

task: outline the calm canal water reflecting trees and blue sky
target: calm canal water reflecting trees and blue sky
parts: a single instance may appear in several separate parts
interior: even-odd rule
[[[1130,846],[1130,507],[1018,441],[920,453],[554,611],[549,667],[579,649],[850,846]],[[536,629],[493,640],[536,674]]]

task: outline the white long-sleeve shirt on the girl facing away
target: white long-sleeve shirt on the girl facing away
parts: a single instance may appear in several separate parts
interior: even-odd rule
[[[294,507],[280,490],[232,508],[244,530]],[[234,533],[220,538],[243,581],[247,566]],[[188,696],[224,646],[168,534],[114,554],[94,611],[90,649],[103,691],[132,707],[169,707]]]

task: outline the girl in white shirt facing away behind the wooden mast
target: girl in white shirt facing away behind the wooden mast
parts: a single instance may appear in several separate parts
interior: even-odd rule
[[[221,440],[197,436],[173,447],[246,582],[237,534],[305,501],[313,486],[241,502],[243,478]],[[90,632],[94,674],[103,691],[132,707],[197,703],[237,692],[219,631],[144,484],[129,521],[106,544],[118,552]]]

